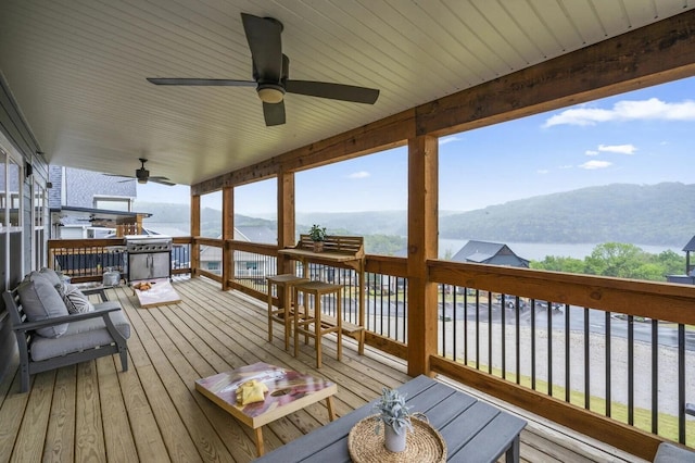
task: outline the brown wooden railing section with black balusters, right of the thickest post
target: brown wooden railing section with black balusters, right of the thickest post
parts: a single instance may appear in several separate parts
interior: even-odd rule
[[[434,371],[643,458],[649,435],[695,443],[695,287],[428,264]]]

